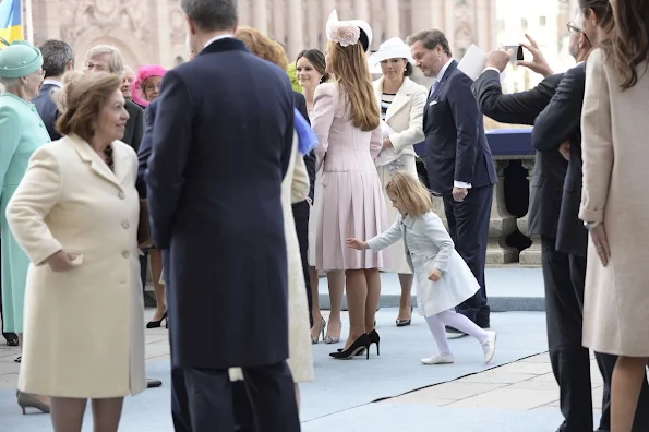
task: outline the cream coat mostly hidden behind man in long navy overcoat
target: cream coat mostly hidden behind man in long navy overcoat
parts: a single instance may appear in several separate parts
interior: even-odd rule
[[[284,209],[284,231],[288,257],[288,367],[293,382],[313,381],[313,347],[309,324],[309,303],[302,272],[300,243],[296,232],[292,205],[309,196],[309,173],[304,160],[298,152],[298,139],[293,140],[293,154],[281,182],[281,208]],[[229,370],[230,380],[243,380],[239,368]]]

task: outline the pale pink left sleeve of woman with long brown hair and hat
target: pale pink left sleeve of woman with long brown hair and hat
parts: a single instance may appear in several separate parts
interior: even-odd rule
[[[317,147],[315,147],[315,172],[320,171],[327,148],[329,147],[329,131],[336,112],[335,91],[335,84],[324,83],[315,88],[315,95],[313,97],[311,128],[313,128],[313,131],[317,135]]]

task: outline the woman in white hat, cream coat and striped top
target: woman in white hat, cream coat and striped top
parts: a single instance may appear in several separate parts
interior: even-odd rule
[[[384,41],[378,47],[378,51],[370,56],[371,65],[381,63],[383,72],[383,77],[374,81],[373,85],[384,127],[383,151],[375,160],[384,193],[386,184],[396,171],[406,170],[418,177],[412,146],[424,140],[423,108],[428,91],[408,77],[412,74],[409,59],[410,48],[398,37]],[[389,203],[387,195],[385,200]],[[388,220],[394,223],[398,216],[399,212],[388,205]],[[392,267],[385,271],[399,274],[401,300],[396,325],[402,327],[410,324],[412,315],[410,300],[412,272],[406,261],[400,240],[390,247],[389,256]]]

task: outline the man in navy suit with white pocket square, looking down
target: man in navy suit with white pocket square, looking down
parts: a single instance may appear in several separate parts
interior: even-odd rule
[[[440,31],[408,38],[416,64],[434,77],[424,108],[425,167],[429,187],[444,199],[448,230],[480,290],[457,307],[482,328],[490,326],[484,263],[493,185],[497,182],[473,82],[457,69],[448,40]],[[447,327],[449,333],[461,333]]]

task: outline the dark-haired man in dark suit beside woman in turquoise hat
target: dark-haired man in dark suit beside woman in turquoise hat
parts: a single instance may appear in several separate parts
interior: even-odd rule
[[[60,112],[57,104],[52,100],[52,91],[61,88],[63,74],[74,70],[74,51],[63,40],[50,39],[40,46],[40,52],[43,53],[45,80],[43,81],[38,96],[32,99],[32,103],[36,106],[36,110],[47,128],[49,137],[56,141],[61,137],[61,134],[55,128]]]

